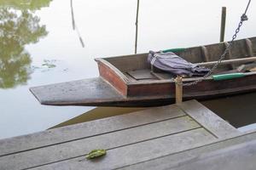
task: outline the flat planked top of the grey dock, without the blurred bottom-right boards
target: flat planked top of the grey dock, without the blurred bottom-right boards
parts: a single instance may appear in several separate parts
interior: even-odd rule
[[[192,118],[188,113],[189,107],[192,112],[195,107],[207,110],[198,102],[190,101],[179,106],[167,105],[3,139],[0,140],[0,169],[120,168],[230,137],[228,133],[216,133],[218,130],[236,131],[226,128],[227,122],[219,123],[217,127],[209,126],[208,122],[201,123],[205,117]],[[207,116],[212,114],[204,112]],[[190,112],[190,115],[193,114]],[[212,119],[216,120],[219,121]],[[108,150],[107,156],[95,161],[86,160],[85,155],[94,149]]]

